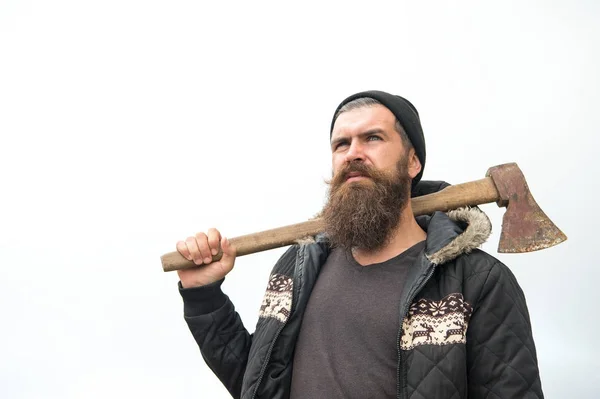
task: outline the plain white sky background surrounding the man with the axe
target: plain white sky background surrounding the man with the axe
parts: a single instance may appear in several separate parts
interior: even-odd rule
[[[0,397],[225,398],[160,256],[323,205],[329,123],[380,89],[419,109],[425,179],[517,162],[569,236],[499,255],[548,398],[597,397],[600,3],[0,2]],[[283,249],[224,284],[249,330]]]

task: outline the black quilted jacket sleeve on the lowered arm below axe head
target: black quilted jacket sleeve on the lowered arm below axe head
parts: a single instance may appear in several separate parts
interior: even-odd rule
[[[496,261],[467,329],[469,398],[543,398],[529,312],[512,272]]]

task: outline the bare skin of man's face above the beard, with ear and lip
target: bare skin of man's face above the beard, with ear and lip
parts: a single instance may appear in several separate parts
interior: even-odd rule
[[[383,105],[362,107],[342,113],[333,126],[331,135],[332,169],[335,176],[350,162],[360,162],[379,171],[395,173],[401,157],[414,157],[414,152],[405,154],[400,134],[395,129],[396,117]],[[414,162],[408,163],[408,173],[414,178]],[[347,182],[367,179],[353,173]]]

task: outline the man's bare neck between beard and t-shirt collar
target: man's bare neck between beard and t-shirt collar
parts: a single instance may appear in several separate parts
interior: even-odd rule
[[[392,237],[388,243],[378,250],[368,251],[361,248],[353,248],[352,254],[354,255],[354,259],[362,266],[385,262],[400,255],[416,243],[425,240],[427,234],[415,220],[410,203],[404,208],[400,216],[400,222],[391,234]]]

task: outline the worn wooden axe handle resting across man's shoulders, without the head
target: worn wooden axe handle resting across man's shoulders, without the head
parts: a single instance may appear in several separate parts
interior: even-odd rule
[[[411,204],[415,216],[419,216],[435,211],[446,212],[463,206],[487,204],[496,202],[498,199],[499,194],[494,181],[491,177],[486,177],[481,180],[449,186],[437,193],[413,198]],[[237,256],[242,256],[293,245],[299,240],[314,236],[322,231],[323,221],[317,218],[259,233],[234,237],[229,241],[236,248]],[[213,256],[213,262],[221,259],[221,255],[219,253]],[[161,262],[165,272],[198,267],[194,262],[190,262],[181,256],[179,252],[170,252],[163,255]]]

